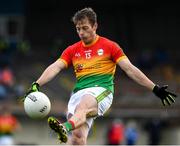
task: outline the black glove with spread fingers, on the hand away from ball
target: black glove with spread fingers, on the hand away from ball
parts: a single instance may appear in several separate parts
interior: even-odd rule
[[[164,85],[162,87],[155,85],[153,88],[153,93],[161,99],[162,104],[164,106],[171,105],[172,103],[174,103],[175,102],[174,98],[177,97],[176,94],[167,91],[166,90],[167,87],[168,87],[168,85]]]

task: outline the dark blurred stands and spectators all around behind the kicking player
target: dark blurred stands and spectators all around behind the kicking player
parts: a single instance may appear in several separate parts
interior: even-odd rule
[[[180,93],[180,9],[174,1],[0,0],[0,144],[58,144],[47,119],[32,120],[17,99],[68,46],[79,40],[71,17],[92,7],[98,34],[116,41],[134,65]],[[88,144],[180,144],[180,99],[171,107],[119,68],[111,109],[96,119]],[[65,120],[73,69],[41,88],[50,115]]]

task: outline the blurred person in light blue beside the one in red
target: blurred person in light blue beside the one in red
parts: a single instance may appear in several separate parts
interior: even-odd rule
[[[135,145],[138,140],[138,131],[134,121],[128,122],[125,129],[125,139],[127,145]]]

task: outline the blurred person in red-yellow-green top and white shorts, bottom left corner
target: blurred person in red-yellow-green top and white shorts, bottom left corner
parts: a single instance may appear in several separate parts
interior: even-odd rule
[[[13,145],[14,132],[20,128],[17,118],[11,113],[8,105],[0,109],[0,145]]]

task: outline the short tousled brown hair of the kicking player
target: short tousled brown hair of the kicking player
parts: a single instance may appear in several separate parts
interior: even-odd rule
[[[92,26],[97,23],[97,15],[92,8],[84,8],[77,11],[72,17],[72,21],[76,25],[78,21],[86,18],[89,20]]]

